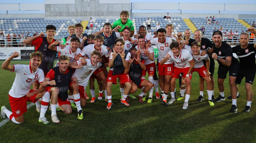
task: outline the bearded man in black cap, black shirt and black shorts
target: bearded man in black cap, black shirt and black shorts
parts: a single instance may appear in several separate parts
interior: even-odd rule
[[[232,48],[226,42],[222,40],[222,33],[220,31],[214,31],[212,34],[213,40],[213,54],[212,58],[217,60],[219,63],[218,68],[218,87],[220,95],[215,101],[220,102],[225,100],[224,96],[224,80],[226,79],[227,73],[229,72],[229,86],[232,97],[232,107],[230,113],[236,113],[236,77],[239,72],[239,62],[232,54]]]

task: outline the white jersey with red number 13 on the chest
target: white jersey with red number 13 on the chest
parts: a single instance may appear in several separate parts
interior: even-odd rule
[[[166,56],[166,54],[171,51],[170,49],[170,44],[172,43],[172,39],[174,38],[171,38],[171,37],[166,37],[165,40],[164,40],[164,43],[160,43],[158,38],[154,38],[152,40],[150,40],[151,44],[154,44],[156,45],[157,49],[158,49],[158,52],[159,52],[159,55],[158,55],[158,62],[160,63],[164,57]],[[164,64],[172,64],[173,63],[173,60],[168,60],[166,63]]]

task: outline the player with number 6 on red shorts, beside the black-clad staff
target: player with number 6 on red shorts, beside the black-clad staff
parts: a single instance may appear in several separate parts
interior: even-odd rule
[[[213,106],[214,103],[212,101],[212,83],[211,83],[211,79],[209,78],[209,76],[211,74],[209,72],[210,59],[209,59],[208,54],[201,56],[202,50],[200,50],[200,48],[201,48],[201,44],[198,41],[192,42],[191,47],[188,45],[185,45],[185,47],[184,47],[184,49],[188,50],[193,57],[194,68],[191,71],[191,75],[193,72],[198,72],[199,76],[202,77],[206,81],[208,102],[211,106]],[[206,68],[204,66],[203,60],[205,60]],[[204,96],[200,95],[196,101],[201,102],[202,100],[204,100]]]

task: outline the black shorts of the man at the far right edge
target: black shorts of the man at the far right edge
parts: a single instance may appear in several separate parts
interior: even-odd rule
[[[240,70],[236,78],[236,83],[241,84],[242,79],[245,77],[245,83],[253,83],[255,78],[256,69],[254,70]]]

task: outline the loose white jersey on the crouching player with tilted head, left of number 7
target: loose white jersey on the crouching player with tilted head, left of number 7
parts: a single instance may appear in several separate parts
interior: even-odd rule
[[[98,62],[96,65],[92,65],[92,61],[90,59],[85,59],[85,60],[87,64],[83,65],[81,69],[76,69],[76,71],[72,75],[72,78],[74,77],[77,78],[76,82],[80,86],[87,86],[92,73],[102,65],[100,62]],[[81,61],[76,61],[77,65],[80,63]]]

